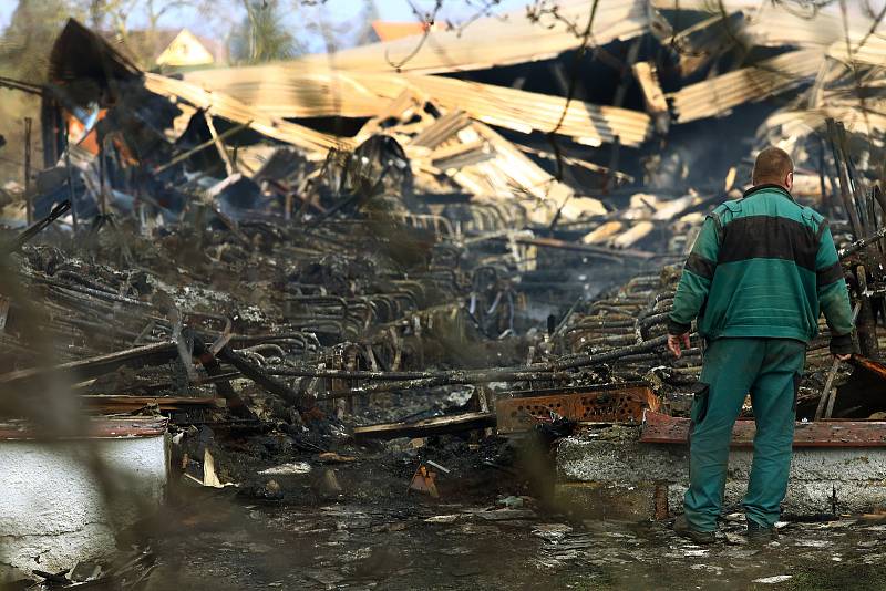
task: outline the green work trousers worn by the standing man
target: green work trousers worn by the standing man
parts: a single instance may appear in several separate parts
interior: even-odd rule
[[[714,531],[723,505],[732,427],[748,393],[756,436],[748,492],[748,519],[763,527],[779,520],[787,491],[796,393],[806,344],[793,339],[712,341],[704,353],[701,388],[692,403],[689,490],[683,500],[693,529]]]

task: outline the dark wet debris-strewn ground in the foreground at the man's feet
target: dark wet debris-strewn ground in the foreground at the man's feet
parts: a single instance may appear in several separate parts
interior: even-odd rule
[[[522,505],[521,505],[522,504]],[[567,522],[532,499],[312,507],[198,498],[165,516],[148,589],[886,589],[886,521],[787,522],[713,547],[668,522]]]

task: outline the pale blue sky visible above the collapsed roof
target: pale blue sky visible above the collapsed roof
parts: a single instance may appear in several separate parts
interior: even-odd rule
[[[352,22],[363,8],[362,0],[315,1],[318,6],[300,9],[299,22],[293,23],[293,29],[298,28],[298,24],[302,24],[303,21],[315,23],[323,21],[332,28],[337,25],[343,27],[346,23]],[[434,0],[374,0],[374,2],[381,19],[391,21],[415,21],[418,19],[411,4],[425,12],[431,11],[435,4]],[[463,22],[476,14],[480,8],[485,4],[495,4],[491,9],[492,13],[501,14],[515,10],[522,11],[529,3],[532,3],[532,0],[498,0],[497,3],[493,0],[443,0],[443,8],[437,14],[437,19]],[[0,30],[6,29],[9,24],[17,6],[18,0],[0,0]],[[243,14],[231,14],[228,19],[239,21],[243,19]],[[130,28],[137,29],[140,27],[138,21],[140,18],[134,15]],[[219,30],[217,22],[200,19],[193,10],[175,10],[164,18],[162,25],[167,28],[187,27],[198,34],[215,37]],[[311,51],[323,51],[320,35],[309,41],[308,46]]]

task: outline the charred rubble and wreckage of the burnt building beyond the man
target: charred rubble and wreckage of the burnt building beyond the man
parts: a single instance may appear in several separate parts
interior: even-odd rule
[[[556,510],[554,442],[668,443],[682,428],[702,360],[696,334],[679,360],[666,349],[682,261],[704,215],[741,195],[753,149],[779,143],[796,160],[795,197],[831,221],[858,313],[848,364],[833,362],[821,320],[797,419],[847,419],[868,442],[864,422],[886,417],[886,127],[861,126],[847,96],[851,68],[874,76],[882,64],[839,62],[818,27],[799,48],[748,10],[662,31],[697,11],[641,4],[657,18],[600,40],[621,66],[608,71],[612,104],[591,104],[590,90],[533,102],[540,93],[435,75],[433,63],[365,71],[346,52],[356,65],[317,76],[360,83],[378,104],[347,97],[359,113],[348,133],[321,131],[319,98],[250,101],[271,66],[143,72],[70,21],[50,83],[29,89],[43,105],[43,166],[28,191],[0,195],[4,217],[23,214],[2,246],[7,416],[51,432],[64,413],[167,417],[179,501],[498,494],[533,500],[497,511],[534,499]],[[782,51],[711,70],[731,51],[714,30],[727,24]],[[629,45],[641,39],[670,53],[656,63]],[[496,75],[536,65],[503,58]],[[632,94],[618,90],[628,79]],[[714,91],[722,103],[703,98]],[[548,100],[564,113],[556,127]],[[713,132],[691,127],[713,116]],[[743,117],[759,120],[756,136]],[[739,134],[724,178],[684,147],[723,129]],[[821,436],[836,437],[826,425]],[[110,572],[132,582],[150,553]]]

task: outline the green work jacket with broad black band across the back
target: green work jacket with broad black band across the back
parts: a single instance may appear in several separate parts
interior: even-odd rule
[[[759,185],[704,220],[673,299],[668,332],[796,339],[818,333],[824,311],[831,351],[849,353],[852,310],[825,219],[777,185]]]

